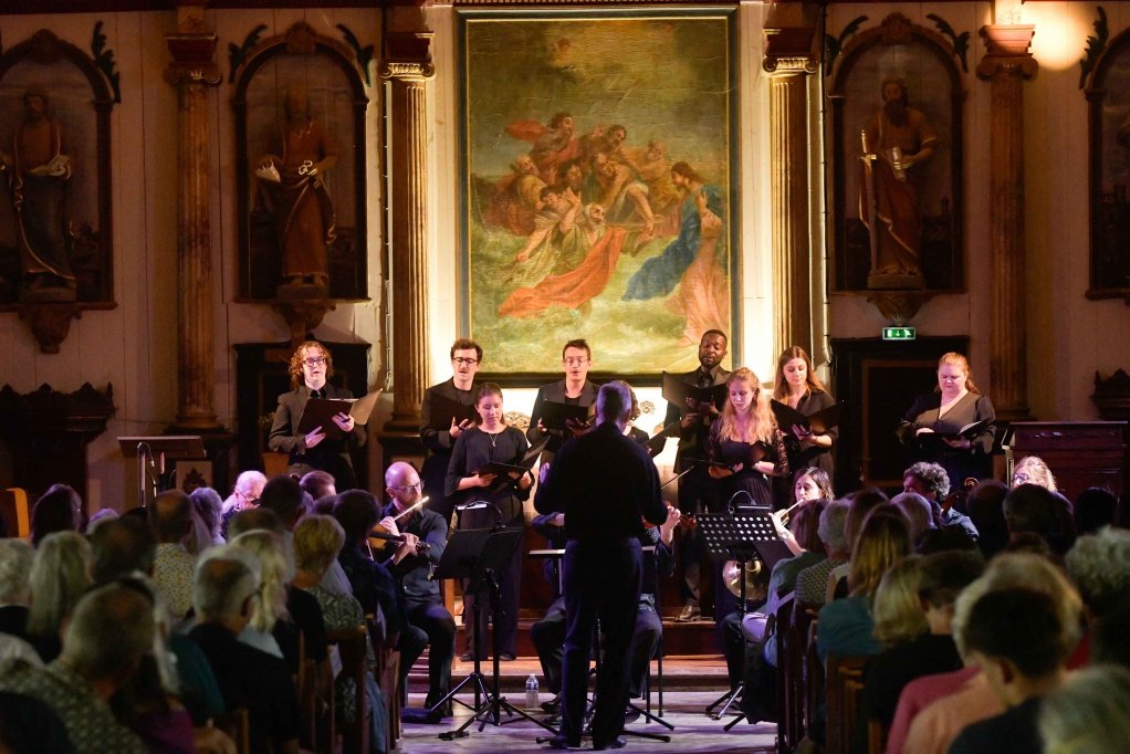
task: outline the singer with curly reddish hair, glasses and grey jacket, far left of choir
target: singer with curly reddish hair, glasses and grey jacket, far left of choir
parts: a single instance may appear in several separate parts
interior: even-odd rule
[[[333,416],[333,424],[345,433],[339,439],[327,436],[322,427],[305,433],[298,431],[298,421],[311,398],[354,397],[350,391],[329,384],[327,380],[331,376],[333,358],[325,346],[314,340],[298,346],[290,357],[290,384],[294,390],[279,396],[268,445],[273,451],[290,456],[287,473],[301,477],[307,471],[321,469],[332,474],[338,492],[344,492],[357,486],[349,448],[365,444],[364,427],[358,426],[348,414],[340,413]]]

